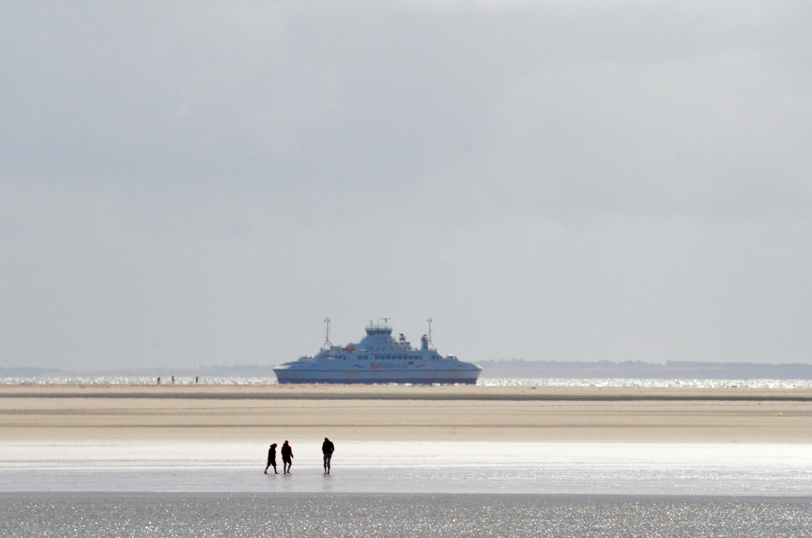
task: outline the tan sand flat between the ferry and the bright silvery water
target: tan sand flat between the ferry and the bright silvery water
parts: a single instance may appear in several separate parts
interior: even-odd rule
[[[812,442],[812,391],[477,386],[6,386],[7,441]]]

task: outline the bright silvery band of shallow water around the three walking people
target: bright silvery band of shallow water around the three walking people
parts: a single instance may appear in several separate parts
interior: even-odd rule
[[[4,444],[0,491],[812,495],[810,445],[335,440],[324,476],[293,441],[287,476],[262,473],[267,445]]]

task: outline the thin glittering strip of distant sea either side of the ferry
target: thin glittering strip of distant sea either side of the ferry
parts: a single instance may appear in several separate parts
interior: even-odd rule
[[[4,377],[0,385],[152,385],[154,377],[84,375],[71,377]],[[175,377],[177,385],[264,385],[277,384],[270,377],[209,377],[203,376],[196,383],[193,377]],[[167,380],[162,380],[167,384]],[[808,389],[812,380],[659,380],[659,379],[547,379],[531,377],[486,377],[477,380],[481,387],[649,387],[649,388],[779,388]]]

